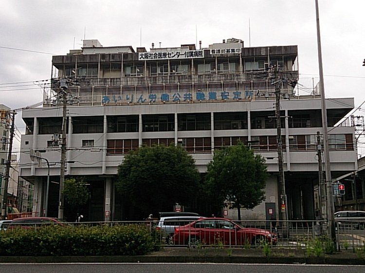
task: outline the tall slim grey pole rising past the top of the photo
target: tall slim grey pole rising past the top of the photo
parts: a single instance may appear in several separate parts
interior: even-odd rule
[[[329,224],[329,237],[334,243],[336,243],[335,234],[335,222],[334,222],[334,204],[332,193],[332,178],[331,168],[329,160],[329,139],[328,139],[328,127],[327,127],[327,108],[325,97],[325,84],[323,77],[323,64],[322,64],[322,48],[321,48],[321,34],[319,29],[319,10],[318,0],[315,0],[316,22],[317,22],[317,47],[318,47],[318,65],[319,65],[319,85],[321,90],[321,108],[322,108],[322,129],[323,129],[323,150],[325,157],[326,168],[326,193],[327,193],[327,217]]]

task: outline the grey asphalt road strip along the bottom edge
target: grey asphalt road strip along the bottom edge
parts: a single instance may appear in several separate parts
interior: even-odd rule
[[[1,272],[16,273],[364,273],[365,266],[258,264],[0,264]]]

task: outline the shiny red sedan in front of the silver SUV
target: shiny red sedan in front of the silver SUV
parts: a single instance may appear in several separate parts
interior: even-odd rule
[[[264,242],[277,244],[277,235],[256,228],[244,228],[226,218],[202,218],[188,225],[175,228],[172,237],[175,245],[195,248],[201,245],[244,246]]]

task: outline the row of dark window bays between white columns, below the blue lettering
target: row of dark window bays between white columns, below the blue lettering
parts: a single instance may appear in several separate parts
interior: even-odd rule
[[[39,135],[48,135],[61,132],[62,118],[38,118]],[[104,117],[73,117],[73,134],[104,133]],[[320,119],[308,117],[289,118],[289,128],[320,127]],[[128,133],[139,131],[138,115],[108,116],[108,133]],[[178,131],[211,130],[211,114],[178,114]],[[332,122],[333,123],[333,122]],[[215,113],[214,130],[248,129],[247,113]],[[252,129],[274,129],[274,116],[251,117]],[[285,117],[281,118],[281,128],[285,128]],[[143,115],[142,132],[173,132],[175,131],[174,114]],[[29,134],[32,130],[27,130]]]

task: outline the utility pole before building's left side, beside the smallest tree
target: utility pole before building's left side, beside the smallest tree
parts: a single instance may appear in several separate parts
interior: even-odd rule
[[[68,81],[65,78],[60,79],[60,91],[62,94],[62,140],[61,140],[61,167],[59,178],[59,198],[58,198],[58,218],[63,219],[63,190],[65,187],[65,161],[66,161],[66,111],[67,111],[67,93]]]

